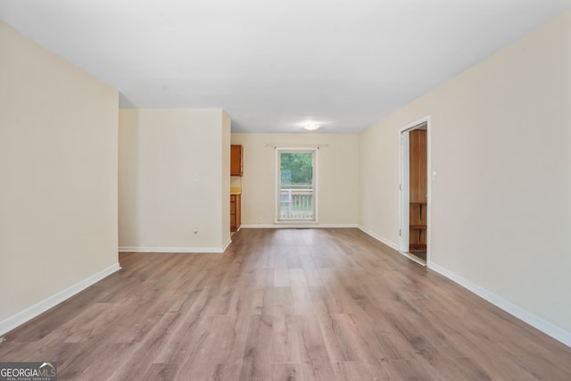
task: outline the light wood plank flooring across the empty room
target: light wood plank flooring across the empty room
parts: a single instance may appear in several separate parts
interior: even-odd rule
[[[571,349],[358,229],[242,229],[123,269],[13,330],[60,380],[571,380]]]

